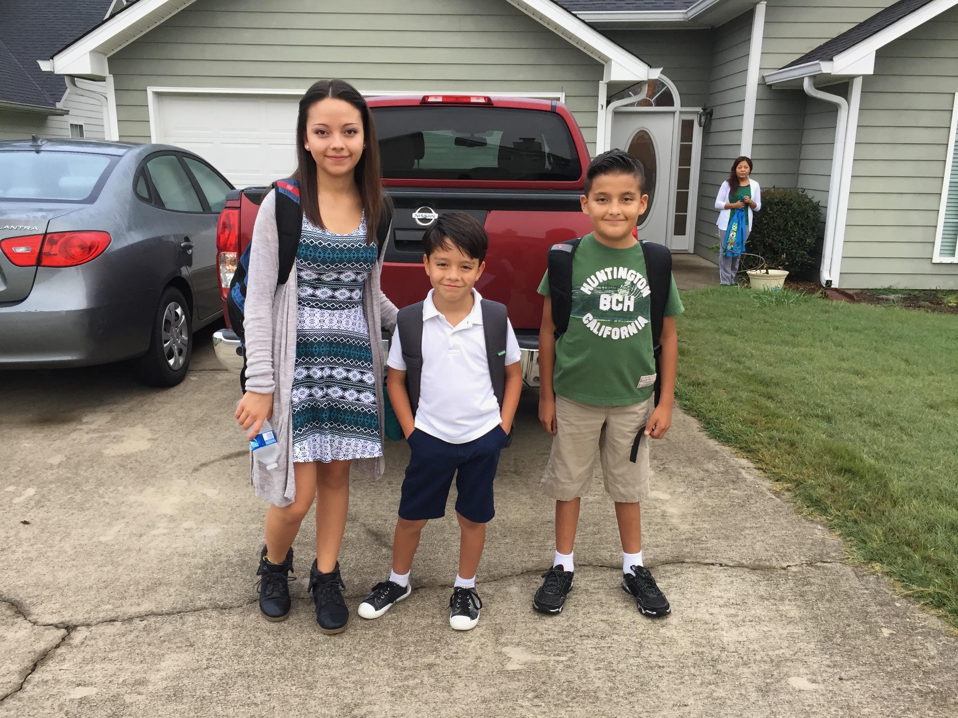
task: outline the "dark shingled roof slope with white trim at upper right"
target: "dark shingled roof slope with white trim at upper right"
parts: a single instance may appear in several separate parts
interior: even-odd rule
[[[958,0],[899,0],[785,67],[765,73],[765,84],[790,87],[819,75],[833,82],[873,75],[878,50],[956,5]]]

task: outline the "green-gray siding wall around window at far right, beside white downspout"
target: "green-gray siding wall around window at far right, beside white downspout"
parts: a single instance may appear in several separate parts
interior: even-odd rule
[[[840,283],[958,289],[958,265],[933,262],[952,107],[958,9],[878,51],[862,81]]]

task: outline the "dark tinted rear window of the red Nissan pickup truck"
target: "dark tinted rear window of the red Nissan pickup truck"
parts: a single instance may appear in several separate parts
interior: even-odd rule
[[[511,107],[374,107],[382,176],[575,182],[579,153],[562,117]]]

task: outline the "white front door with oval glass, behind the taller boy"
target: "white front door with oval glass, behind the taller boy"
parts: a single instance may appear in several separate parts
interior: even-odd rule
[[[670,245],[675,113],[621,107],[612,119],[612,146],[625,149],[646,170],[649,207],[639,217],[639,239]],[[682,249],[685,249],[683,246]]]

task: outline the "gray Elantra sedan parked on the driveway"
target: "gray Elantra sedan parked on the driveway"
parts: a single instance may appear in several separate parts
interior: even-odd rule
[[[0,369],[133,359],[150,385],[182,381],[222,315],[232,189],[173,146],[0,142]]]

